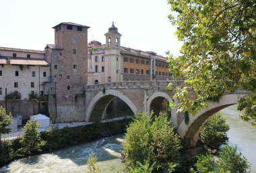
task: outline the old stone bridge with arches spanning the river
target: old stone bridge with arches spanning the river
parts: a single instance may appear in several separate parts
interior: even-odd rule
[[[89,85],[86,90],[86,121],[103,120],[106,109],[115,98],[123,100],[136,112],[150,114],[153,110],[156,114],[160,111],[166,112],[167,103],[177,104],[177,98],[173,98],[173,90],[182,86],[183,81],[171,81],[172,89],[168,89],[168,81],[123,81],[117,83],[106,83],[100,85]],[[171,110],[171,119],[177,132],[183,139],[188,139],[190,146],[196,145],[199,132],[207,118],[210,118],[219,110],[236,104],[238,98],[247,95],[247,92],[237,91],[226,93],[219,102],[210,102],[207,108],[198,112],[195,116],[189,115],[189,123],[185,123],[183,112],[177,112],[176,108]],[[116,105],[118,106],[118,105]]]

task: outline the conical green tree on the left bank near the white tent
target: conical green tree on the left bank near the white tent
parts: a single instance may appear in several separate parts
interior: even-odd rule
[[[28,120],[25,127],[22,129],[24,134],[20,140],[21,148],[18,153],[29,155],[36,151],[41,151],[42,146],[46,144],[46,141],[41,139],[38,128],[40,125],[36,123],[34,118]]]

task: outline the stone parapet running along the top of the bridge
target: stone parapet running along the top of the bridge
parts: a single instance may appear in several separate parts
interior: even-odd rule
[[[86,85],[84,90],[102,90],[106,89],[122,89],[122,88],[161,88],[161,90],[169,90],[167,88],[168,83],[172,82],[172,88],[183,85],[183,80],[176,81],[121,81],[121,82],[111,82],[103,83],[98,85]]]

